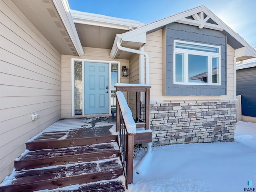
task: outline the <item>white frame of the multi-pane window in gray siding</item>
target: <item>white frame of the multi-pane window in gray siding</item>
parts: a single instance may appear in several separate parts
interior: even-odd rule
[[[219,52],[205,52],[205,51],[198,51],[198,50],[187,50],[182,48],[176,48],[176,42],[184,43],[184,44],[192,44],[192,45],[199,45],[199,46],[207,46],[210,48],[218,48]],[[194,42],[186,42],[180,40],[174,40],[174,51],[173,51],[173,84],[180,84],[180,85],[221,85],[221,49],[220,46],[208,45],[208,44],[201,44],[201,43],[194,43]],[[184,82],[176,82],[176,54],[184,54]],[[199,56],[208,56],[208,83],[205,82],[188,82],[188,55],[199,55]],[[219,83],[212,82],[212,58],[218,57],[219,58]]]

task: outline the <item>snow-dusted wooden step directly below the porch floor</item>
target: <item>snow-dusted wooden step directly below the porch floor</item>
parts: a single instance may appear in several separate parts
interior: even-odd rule
[[[118,157],[120,150],[117,142],[92,144],[58,149],[28,151],[14,162],[16,170],[62,165],[76,162]]]

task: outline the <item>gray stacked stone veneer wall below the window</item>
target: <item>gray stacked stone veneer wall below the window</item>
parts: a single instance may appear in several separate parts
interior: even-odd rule
[[[234,141],[236,101],[150,102],[152,144]]]

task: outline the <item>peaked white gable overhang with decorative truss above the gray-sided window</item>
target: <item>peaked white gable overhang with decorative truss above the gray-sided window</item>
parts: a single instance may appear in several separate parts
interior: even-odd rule
[[[142,39],[146,43],[146,34],[159,30],[172,22],[190,24],[198,26],[198,28],[219,30],[228,37],[228,44],[237,50],[236,60],[240,61],[246,58],[256,57],[256,50],[205,6],[196,7],[125,32],[122,34],[122,40],[120,42],[124,40],[136,41],[136,39]],[[114,54],[117,53],[115,43],[112,46],[111,53],[110,56],[116,58],[116,54]]]

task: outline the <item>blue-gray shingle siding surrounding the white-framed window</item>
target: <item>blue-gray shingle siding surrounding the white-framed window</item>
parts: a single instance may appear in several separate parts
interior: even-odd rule
[[[221,47],[221,85],[174,85],[173,40],[183,40]],[[166,25],[166,95],[190,96],[226,95],[226,36],[217,30],[171,23]]]

